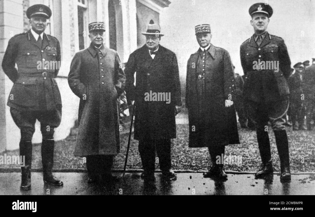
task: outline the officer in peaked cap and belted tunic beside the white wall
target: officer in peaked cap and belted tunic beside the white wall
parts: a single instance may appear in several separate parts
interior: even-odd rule
[[[60,66],[60,44],[57,38],[44,33],[47,19],[51,16],[49,7],[42,4],[33,5],[27,9],[26,15],[30,19],[31,30],[9,40],[2,62],[4,73],[14,83],[8,106],[11,107],[12,118],[21,132],[20,155],[25,155],[25,167],[21,167],[23,190],[31,189],[31,140],[36,119],[41,123],[43,136],[44,182],[63,185],[52,175],[54,128],[58,127],[61,121],[61,97],[54,79]],[[50,64],[46,64],[47,61]]]

